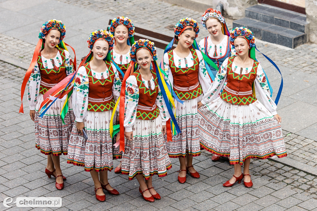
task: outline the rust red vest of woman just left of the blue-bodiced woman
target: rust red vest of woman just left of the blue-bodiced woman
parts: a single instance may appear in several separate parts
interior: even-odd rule
[[[181,100],[190,100],[203,93],[198,80],[199,59],[195,49],[190,49],[194,58],[194,65],[188,68],[178,68],[174,64],[173,51],[168,52],[169,66],[173,75],[173,89]]]

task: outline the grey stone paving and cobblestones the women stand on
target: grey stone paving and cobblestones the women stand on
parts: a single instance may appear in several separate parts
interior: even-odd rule
[[[44,13],[43,8],[46,8]],[[290,49],[257,40],[258,49],[273,59],[283,74],[284,89],[278,113],[282,116],[288,162],[283,158],[252,159],[250,173],[254,186],[247,189],[239,184],[224,188],[222,183],[233,174],[233,166],[226,158],[212,162],[211,154],[203,151],[193,160],[201,174],[199,179],[187,175],[186,183],[178,183],[177,159],[172,159],[173,167],[168,176],[153,177],[153,186],[162,196],[159,201],[145,202],[135,179],[128,181],[126,176],[112,171],[109,182],[121,194],[106,194],[106,202],[98,202],[90,174],[82,167],[67,164],[66,156],[61,156],[63,174],[67,176],[65,188],[55,189],[55,180],[44,173],[47,156],[34,147],[34,126],[29,119],[26,94],[25,114],[17,113],[21,83],[40,26],[52,18],[62,20],[67,28],[65,41],[75,48],[79,59],[87,54],[86,40],[91,31],[106,28],[108,20],[116,16],[129,16],[137,27],[172,36],[168,26],[183,17],[200,22],[203,11],[158,0],[109,0],[107,4],[102,0],[0,0],[0,12],[0,39],[5,40],[0,43],[0,201],[8,196],[14,200],[18,196],[58,196],[63,200],[63,207],[58,210],[317,210],[317,117],[307,115],[317,111],[316,44],[306,43]],[[232,25],[232,20],[226,19],[226,22]],[[207,35],[201,28],[198,40]],[[158,54],[161,57],[162,50]],[[281,77],[263,56],[257,55],[275,98]],[[114,166],[117,164],[118,161],[114,161]],[[0,210],[4,209],[0,203]]]

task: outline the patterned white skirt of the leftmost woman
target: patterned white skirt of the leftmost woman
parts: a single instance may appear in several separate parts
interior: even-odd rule
[[[61,120],[61,109],[64,105],[64,100],[54,102],[49,110],[39,117],[39,108],[43,102],[43,95],[37,96],[35,106],[35,147],[45,155],[53,154],[59,156],[67,155],[68,140],[74,124],[74,113],[72,109],[71,98],[69,99],[69,110],[64,118],[65,124]]]

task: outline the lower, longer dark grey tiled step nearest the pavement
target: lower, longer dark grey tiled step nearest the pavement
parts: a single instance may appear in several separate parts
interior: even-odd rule
[[[233,28],[246,27],[257,39],[294,48],[307,42],[307,34],[257,19],[242,18],[233,22]]]

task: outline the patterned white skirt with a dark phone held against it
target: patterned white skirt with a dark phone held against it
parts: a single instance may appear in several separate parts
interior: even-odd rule
[[[84,120],[87,140],[78,132],[74,124],[68,144],[67,163],[83,166],[85,171],[112,170],[112,138],[109,132],[111,114],[112,110],[87,111]]]

